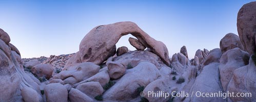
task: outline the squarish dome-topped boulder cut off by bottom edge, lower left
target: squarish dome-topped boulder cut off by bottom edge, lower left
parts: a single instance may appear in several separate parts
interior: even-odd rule
[[[48,84],[45,86],[44,90],[48,102],[68,101],[68,90],[64,85],[61,85],[60,83]]]

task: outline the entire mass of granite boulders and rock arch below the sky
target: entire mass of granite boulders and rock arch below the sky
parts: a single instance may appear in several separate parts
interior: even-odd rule
[[[238,12],[239,36],[228,33],[220,48],[198,49],[193,59],[186,46],[169,58],[163,42],[130,21],[99,25],[78,52],[50,58],[22,59],[0,29],[0,101],[255,101],[255,11],[256,2],[245,4]],[[128,34],[136,50],[116,48]],[[220,92],[249,96],[195,95]]]

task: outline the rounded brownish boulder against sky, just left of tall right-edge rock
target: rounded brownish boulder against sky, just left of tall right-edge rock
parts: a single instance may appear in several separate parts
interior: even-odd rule
[[[239,39],[239,37],[233,33],[226,34],[220,41],[221,52],[225,53],[229,49],[239,47],[244,50],[244,47]]]

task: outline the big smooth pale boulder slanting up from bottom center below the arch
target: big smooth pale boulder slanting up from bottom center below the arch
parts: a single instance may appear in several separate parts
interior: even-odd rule
[[[140,96],[137,88],[146,87],[149,83],[160,77],[159,70],[154,64],[141,62],[117,81],[114,86],[103,94],[104,99],[127,101]]]

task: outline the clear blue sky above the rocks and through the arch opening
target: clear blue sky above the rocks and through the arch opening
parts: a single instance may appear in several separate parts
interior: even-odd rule
[[[249,0],[224,1],[0,1],[0,28],[7,32],[22,58],[76,53],[84,36],[97,25],[132,21],[165,43],[169,57],[187,47],[220,47],[227,33],[237,32],[237,14]],[[123,36],[116,46],[135,50]]]

